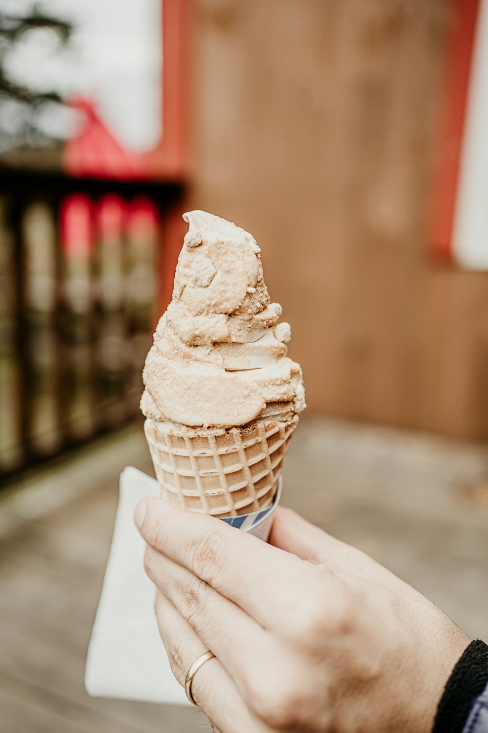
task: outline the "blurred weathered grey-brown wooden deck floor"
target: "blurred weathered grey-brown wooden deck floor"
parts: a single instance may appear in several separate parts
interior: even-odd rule
[[[92,699],[83,688],[126,463],[152,473],[139,428],[0,494],[1,733],[209,729],[197,710]],[[64,487],[62,501],[50,485]],[[486,447],[303,419],[283,502],[386,564],[468,636],[488,638]]]

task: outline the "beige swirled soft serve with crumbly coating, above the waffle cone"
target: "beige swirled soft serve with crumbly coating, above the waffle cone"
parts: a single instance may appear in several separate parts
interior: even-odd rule
[[[278,323],[254,237],[204,211],[183,218],[189,230],[146,358],[141,410],[190,427],[293,419],[305,407],[301,368],[286,356],[290,325]]]

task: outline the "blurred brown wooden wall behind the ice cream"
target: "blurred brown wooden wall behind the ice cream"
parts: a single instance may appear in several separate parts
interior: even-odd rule
[[[309,409],[488,438],[488,273],[427,204],[448,0],[195,0],[189,205],[255,235]]]

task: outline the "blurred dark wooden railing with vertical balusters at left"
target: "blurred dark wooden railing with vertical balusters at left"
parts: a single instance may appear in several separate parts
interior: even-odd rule
[[[0,475],[138,416],[162,224],[178,196],[174,185],[0,183]]]

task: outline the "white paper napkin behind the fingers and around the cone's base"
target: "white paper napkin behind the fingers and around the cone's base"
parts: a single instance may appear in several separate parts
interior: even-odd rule
[[[266,540],[280,494],[281,482],[272,507],[223,521]],[[134,524],[135,507],[146,496],[159,496],[157,481],[137,468],[125,468],[86,659],[86,691],[94,697],[189,705],[159,636],[154,586],[143,567],[145,545]]]

